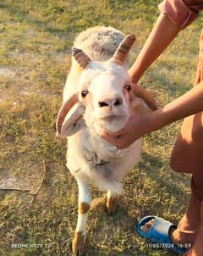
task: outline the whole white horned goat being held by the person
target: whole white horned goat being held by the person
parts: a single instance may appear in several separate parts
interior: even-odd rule
[[[73,253],[85,248],[85,225],[91,205],[88,184],[107,190],[107,213],[112,214],[123,190],[123,178],[140,159],[142,139],[119,150],[99,136],[101,131],[118,131],[129,119],[131,82],[126,61],[135,37],[124,37],[111,27],[94,27],[80,33],[74,42],[71,70],[58,113],[58,136],[69,136],[67,167],[79,187],[78,223]],[[154,104],[140,89],[139,111]],[[148,105],[146,104],[148,103]],[[70,108],[71,105],[71,108]]]

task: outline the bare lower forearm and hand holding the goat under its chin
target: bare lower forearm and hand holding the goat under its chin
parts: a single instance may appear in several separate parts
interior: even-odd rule
[[[122,130],[112,134],[102,134],[102,137],[116,147],[123,149],[129,147],[140,136],[159,130],[176,120],[200,111],[203,111],[203,82],[172,103],[168,103],[162,109],[143,114],[137,111],[135,107],[134,113]]]

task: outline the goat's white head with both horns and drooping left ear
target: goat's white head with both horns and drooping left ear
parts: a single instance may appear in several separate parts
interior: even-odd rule
[[[82,116],[86,125],[93,125],[97,133],[118,131],[126,124],[132,92],[123,64],[134,41],[134,35],[125,36],[112,58],[106,62],[92,61],[82,50],[73,49],[74,58],[82,68],[79,90],[58,113],[58,136],[70,136],[79,131]]]

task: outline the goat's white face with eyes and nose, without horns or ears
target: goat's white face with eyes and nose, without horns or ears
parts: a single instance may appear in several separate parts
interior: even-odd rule
[[[118,131],[129,119],[129,75],[119,64],[91,61],[82,71],[79,101],[85,122],[101,131]]]

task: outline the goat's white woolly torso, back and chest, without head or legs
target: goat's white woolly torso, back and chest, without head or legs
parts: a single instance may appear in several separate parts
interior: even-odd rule
[[[74,47],[81,48],[93,60],[106,61],[112,57],[123,38],[123,33],[113,28],[96,27],[80,33]],[[77,92],[80,72],[79,65],[72,58],[63,101]],[[119,193],[123,177],[140,160],[142,139],[119,150],[96,134],[90,116],[84,115],[84,120],[83,128],[68,139],[67,167],[76,179]]]

